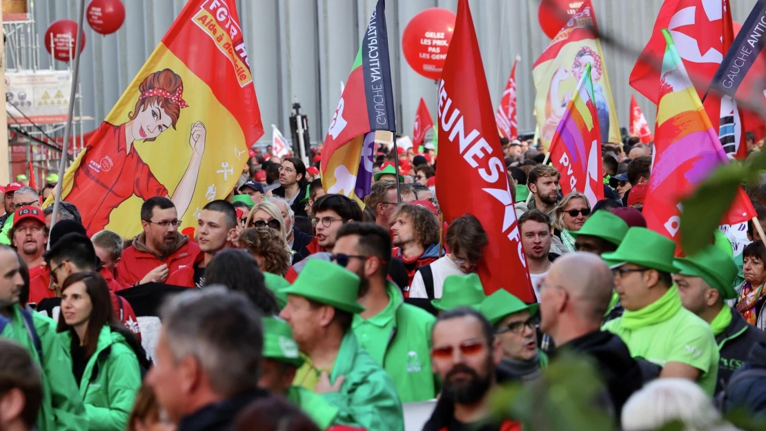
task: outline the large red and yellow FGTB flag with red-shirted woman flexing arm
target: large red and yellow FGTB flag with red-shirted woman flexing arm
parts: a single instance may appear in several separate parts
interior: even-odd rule
[[[154,196],[173,201],[182,227],[196,226],[263,134],[234,1],[191,0],[64,175],[62,199],[89,234],[133,237]]]

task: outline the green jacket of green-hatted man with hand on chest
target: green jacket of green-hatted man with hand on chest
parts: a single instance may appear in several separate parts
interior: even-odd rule
[[[340,392],[322,393],[338,407],[336,423],[375,431],[404,431],[404,413],[391,376],[359,347],[353,331],[341,341],[330,383],[345,376]]]

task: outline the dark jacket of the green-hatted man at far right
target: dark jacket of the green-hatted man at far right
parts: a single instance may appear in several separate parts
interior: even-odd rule
[[[739,312],[732,309],[732,323],[715,337],[715,342],[720,354],[719,377],[715,383],[715,393],[719,393],[732,374],[745,363],[751,348],[757,343],[766,343],[766,332],[748,325]]]

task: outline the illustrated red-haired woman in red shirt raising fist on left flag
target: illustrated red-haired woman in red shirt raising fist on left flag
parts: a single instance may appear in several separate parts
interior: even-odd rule
[[[80,209],[89,236],[103,230],[113,209],[133,194],[143,200],[155,196],[170,198],[178,218],[191,204],[205,152],[205,125],[195,122],[191,126],[191,161],[170,196],[165,185],[155,178],[149,165],[136,152],[134,144],[152,142],[170,127],[175,129],[181,109],[188,107],[182,98],[183,81],[170,69],[160,70],[150,73],[139,85],[139,91],[128,122],[113,125],[105,121],[101,124],[80,158],[80,168],[75,172],[72,189],[67,194],[67,201],[76,203]]]

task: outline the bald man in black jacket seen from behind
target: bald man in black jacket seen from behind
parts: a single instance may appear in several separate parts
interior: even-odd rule
[[[641,388],[643,378],[620,337],[601,331],[613,290],[611,270],[596,254],[559,257],[540,285],[540,329],[553,338],[557,351],[568,349],[596,361],[619,421],[623,405]]]

